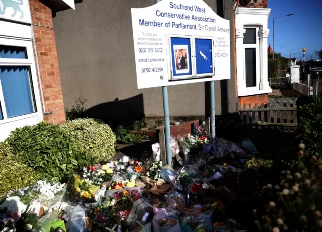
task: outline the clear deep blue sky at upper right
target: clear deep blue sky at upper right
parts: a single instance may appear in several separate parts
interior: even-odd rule
[[[322,0],[268,0],[271,8],[268,20],[270,34],[268,43],[273,48],[273,17],[294,13],[292,16],[275,19],[275,52],[290,57],[295,52],[297,60],[303,57],[302,48],[306,48],[305,60],[318,57],[314,50],[322,49]]]

